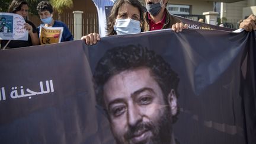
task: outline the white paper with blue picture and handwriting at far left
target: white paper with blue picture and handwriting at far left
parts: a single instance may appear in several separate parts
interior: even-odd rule
[[[0,12],[0,40],[28,40],[21,15]]]

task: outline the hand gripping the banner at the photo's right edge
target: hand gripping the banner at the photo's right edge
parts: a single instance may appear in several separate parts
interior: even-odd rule
[[[256,16],[250,15],[247,19],[242,21],[239,28],[244,28],[246,31],[256,30]]]

